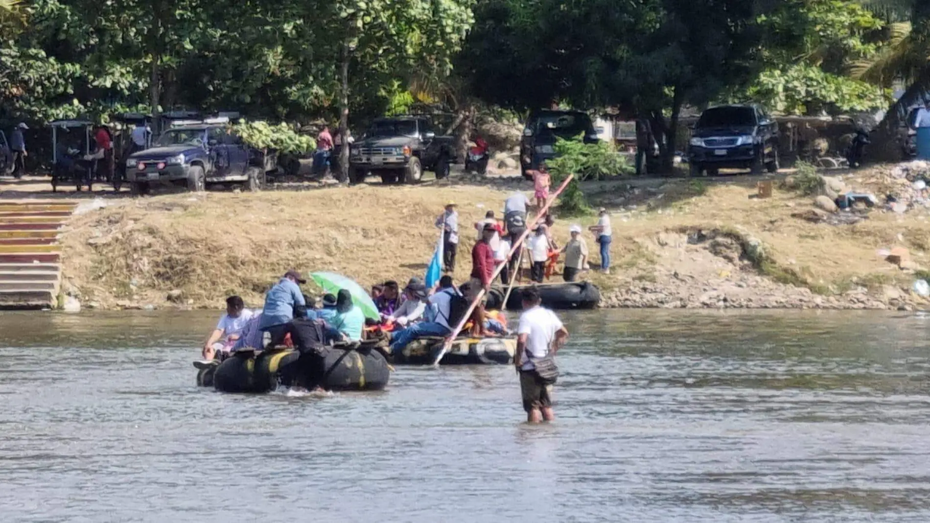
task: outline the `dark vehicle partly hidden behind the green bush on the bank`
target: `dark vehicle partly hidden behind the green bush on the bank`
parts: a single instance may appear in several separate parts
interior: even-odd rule
[[[527,171],[555,157],[555,141],[582,137],[585,143],[596,143],[597,130],[591,116],[582,111],[534,111],[526,120],[523,139],[520,141],[520,173],[533,178]]]

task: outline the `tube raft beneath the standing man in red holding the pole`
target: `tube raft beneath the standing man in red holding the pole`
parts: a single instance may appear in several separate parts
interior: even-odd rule
[[[432,365],[443,346],[443,338],[420,338],[392,355],[399,365]],[[440,365],[508,365],[513,363],[516,338],[458,338],[443,355]]]

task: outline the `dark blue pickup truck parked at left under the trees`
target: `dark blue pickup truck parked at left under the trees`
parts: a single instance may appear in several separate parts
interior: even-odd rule
[[[132,194],[157,184],[204,191],[207,183],[244,184],[259,191],[276,168],[273,155],[246,145],[225,124],[188,124],[162,133],[151,149],[126,158]]]

